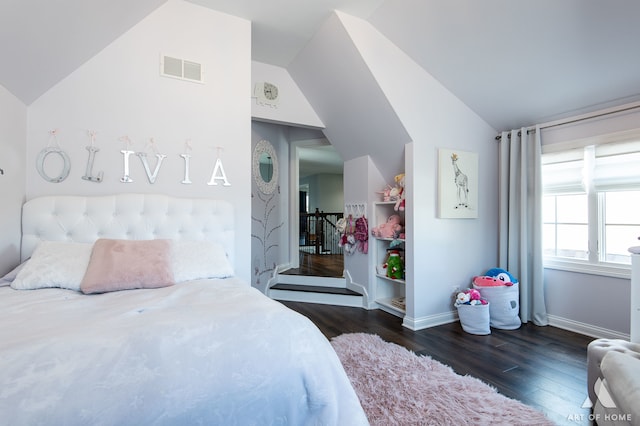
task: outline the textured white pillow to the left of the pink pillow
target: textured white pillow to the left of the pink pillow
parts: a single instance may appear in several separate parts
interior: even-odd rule
[[[92,248],[91,243],[42,241],[11,287],[16,290],[59,287],[80,291]]]

